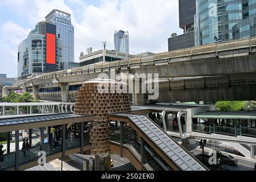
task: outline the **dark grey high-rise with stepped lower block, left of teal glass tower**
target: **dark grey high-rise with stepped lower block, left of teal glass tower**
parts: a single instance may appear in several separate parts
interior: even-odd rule
[[[179,26],[184,34],[168,38],[168,51],[195,47],[196,0],[179,0]]]

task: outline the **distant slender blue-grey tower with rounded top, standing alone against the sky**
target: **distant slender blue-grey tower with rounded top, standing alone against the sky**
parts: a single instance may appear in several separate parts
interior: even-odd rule
[[[114,49],[117,52],[129,54],[129,32],[119,30],[114,32]]]

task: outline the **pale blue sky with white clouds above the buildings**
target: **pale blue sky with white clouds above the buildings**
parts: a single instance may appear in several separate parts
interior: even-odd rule
[[[168,51],[168,38],[179,28],[178,0],[1,0],[0,73],[17,76],[18,45],[53,9],[71,14],[75,62],[87,47],[114,49],[114,31],[129,31],[130,53]]]

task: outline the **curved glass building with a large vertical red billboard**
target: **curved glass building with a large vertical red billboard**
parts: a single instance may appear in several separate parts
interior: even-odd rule
[[[61,41],[56,26],[39,22],[18,46],[18,80],[62,69]]]

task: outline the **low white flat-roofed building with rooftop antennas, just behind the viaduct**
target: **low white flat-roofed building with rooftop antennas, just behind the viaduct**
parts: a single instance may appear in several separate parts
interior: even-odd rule
[[[94,64],[94,63],[102,63],[102,62],[111,62],[121,59],[129,59],[134,58],[134,55],[129,55],[127,53],[117,52],[117,51],[110,51],[108,49],[101,49],[99,51],[95,51],[89,53],[88,55],[84,55],[79,57],[80,59],[80,67]]]

